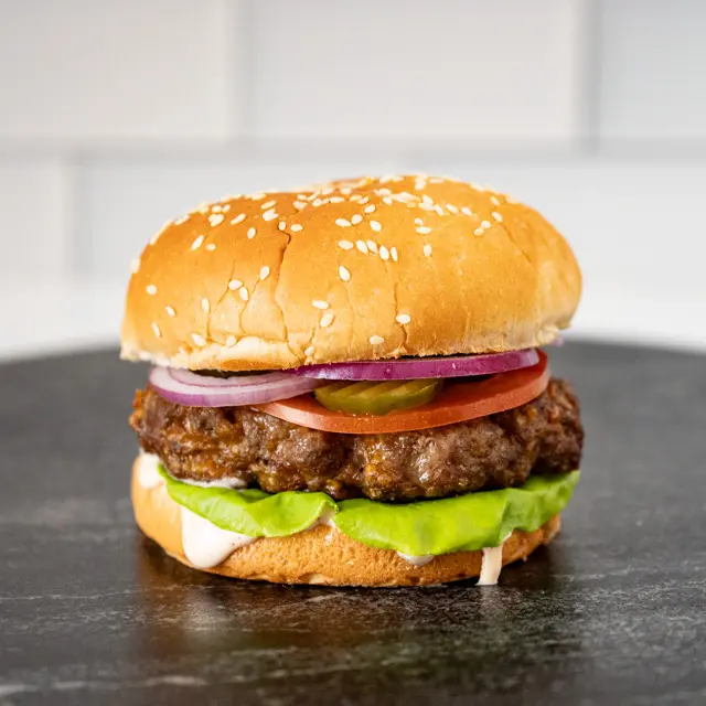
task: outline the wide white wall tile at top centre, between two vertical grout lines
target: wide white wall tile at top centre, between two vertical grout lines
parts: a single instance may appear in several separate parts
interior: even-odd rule
[[[576,133],[580,0],[253,4],[258,136]]]

